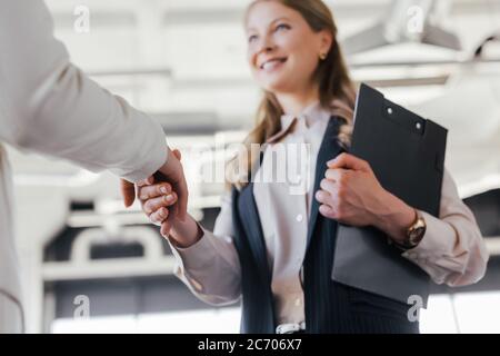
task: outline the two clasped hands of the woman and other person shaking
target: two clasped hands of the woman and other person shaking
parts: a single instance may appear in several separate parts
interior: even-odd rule
[[[121,180],[121,194],[126,207],[136,197],[142,210],[154,225],[161,226],[161,235],[172,237],[179,247],[189,247],[202,236],[196,220],[188,210],[188,185],[180,162],[179,150],[170,150],[166,164],[151,177],[133,185]]]

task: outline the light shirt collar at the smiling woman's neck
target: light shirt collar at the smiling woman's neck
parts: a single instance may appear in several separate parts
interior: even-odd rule
[[[306,127],[311,127],[318,121],[329,120],[331,117],[331,112],[326,110],[321,103],[316,101],[314,103],[308,106],[302,112],[296,117],[290,113],[284,113],[281,116],[281,130],[276,135],[271,136],[266,142],[267,144],[276,144],[284,136],[293,131],[294,127],[299,121],[306,125]]]

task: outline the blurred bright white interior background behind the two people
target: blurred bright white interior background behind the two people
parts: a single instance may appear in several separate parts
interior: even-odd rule
[[[242,140],[261,95],[246,63],[249,2],[47,1],[73,62],[186,151],[189,210],[208,228],[223,185],[197,178],[226,159],[218,142]],[[500,333],[500,0],[327,3],[352,77],[450,129],[447,166],[491,254],[479,284],[432,286],[422,333]],[[172,275],[168,245],[138,206],[123,209],[114,177],[10,157],[29,333],[239,332],[238,306],[211,308]]]

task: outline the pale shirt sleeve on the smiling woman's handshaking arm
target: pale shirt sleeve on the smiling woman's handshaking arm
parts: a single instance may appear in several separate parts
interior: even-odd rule
[[[222,197],[213,233],[202,228],[204,235],[193,246],[179,248],[169,240],[177,260],[176,275],[199,299],[211,305],[234,304],[241,295],[231,200],[230,194]]]

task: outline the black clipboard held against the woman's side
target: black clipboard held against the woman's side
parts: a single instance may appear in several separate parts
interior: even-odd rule
[[[408,205],[439,216],[448,130],[361,85],[350,154],[367,160],[382,187]],[[429,276],[373,228],[339,225],[332,279],[427,306]],[[414,298],[414,297],[413,297]]]

